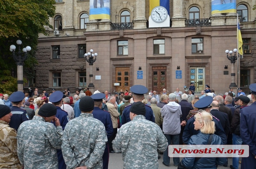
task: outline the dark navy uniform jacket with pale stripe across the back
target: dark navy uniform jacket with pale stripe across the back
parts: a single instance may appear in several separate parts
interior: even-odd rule
[[[20,124],[24,121],[29,120],[27,111],[17,106],[12,106],[10,109],[12,112],[12,117],[9,126],[18,131]]]

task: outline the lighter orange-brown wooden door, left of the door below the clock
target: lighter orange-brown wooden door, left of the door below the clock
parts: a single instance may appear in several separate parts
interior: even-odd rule
[[[122,89],[130,91],[130,68],[129,67],[116,67],[116,92]]]

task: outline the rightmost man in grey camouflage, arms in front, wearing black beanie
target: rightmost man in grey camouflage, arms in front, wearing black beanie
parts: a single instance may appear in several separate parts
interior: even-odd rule
[[[167,149],[168,143],[162,130],[157,124],[146,120],[145,114],[145,105],[140,101],[134,102],[130,108],[132,121],[119,129],[113,141],[114,151],[122,152],[125,169],[158,169],[157,151]]]

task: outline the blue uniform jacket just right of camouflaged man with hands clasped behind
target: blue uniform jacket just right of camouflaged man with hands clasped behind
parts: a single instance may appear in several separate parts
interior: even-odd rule
[[[104,124],[109,139],[113,134],[113,124],[109,112],[101,110],[99,107],[94,107],[92,115]]]

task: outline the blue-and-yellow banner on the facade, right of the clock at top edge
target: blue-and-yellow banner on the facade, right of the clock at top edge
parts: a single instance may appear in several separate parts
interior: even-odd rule
[[[236,0],[212,0],[212,14],[236,13]]]

